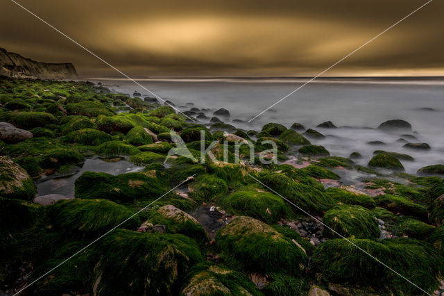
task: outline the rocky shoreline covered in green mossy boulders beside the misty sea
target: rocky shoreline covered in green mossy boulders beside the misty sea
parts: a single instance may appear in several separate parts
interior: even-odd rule
[[[411,156],[375,149],[357,165],[359,151],[319,145],[337,129],[330,121],[244,130],[225,123],[226,109],[190,103],[182,114],[142,97],[0,77],[0,292],[17,293],[130,217],[23,295],[444,293],[443,164],[407,174]],[[404,120],[378,129],[430,149]],[[170,131],[197,160],[216,141],[215,159],[169,156]]]

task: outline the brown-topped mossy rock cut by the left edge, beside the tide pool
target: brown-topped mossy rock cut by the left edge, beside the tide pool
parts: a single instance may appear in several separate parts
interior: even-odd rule
[[[28,173],[8,156],[0,156],[0,196],[31,200],[36,192]]]

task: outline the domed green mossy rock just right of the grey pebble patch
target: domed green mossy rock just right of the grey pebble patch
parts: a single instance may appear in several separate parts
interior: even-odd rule
[[[336,206],[325,213],[323,222],[330,227],[325,233],[333,238],[337,233],[347,238],[379,238],[380,234],[372,213],[362,206]]]

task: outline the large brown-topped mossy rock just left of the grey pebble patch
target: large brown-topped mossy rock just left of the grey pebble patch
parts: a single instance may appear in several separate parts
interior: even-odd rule
[[[252,272],[300,274],[307,261],[305,249],[264,222],[237,217],[216,233],[223,257],[232,256]]]

